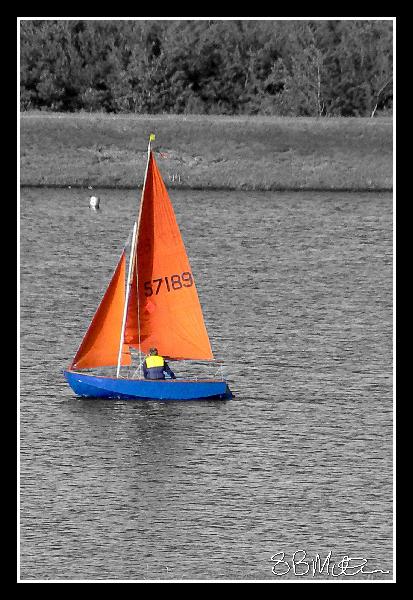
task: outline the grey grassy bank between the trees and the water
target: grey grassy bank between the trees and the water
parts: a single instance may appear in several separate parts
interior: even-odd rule
[[[86,113],[21,114],[21,185],[140,187],[151,132],[168,187],[392,188],[391,118]]]

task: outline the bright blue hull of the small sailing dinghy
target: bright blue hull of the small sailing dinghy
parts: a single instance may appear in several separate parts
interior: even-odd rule
[[[116,379],[88,373],[64,371],[66,381],[78,396],[124,400],[229,400],[233,397],[225,381],[165,379]]]

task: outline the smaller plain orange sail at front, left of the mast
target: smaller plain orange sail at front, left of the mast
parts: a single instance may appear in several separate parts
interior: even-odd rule
[[[116,366],[125,306],[125,268],[126,258],[123,251],[102,301],[73,359],[72,368]],[[129,348],[125,345],[121,364],[131,364]]]

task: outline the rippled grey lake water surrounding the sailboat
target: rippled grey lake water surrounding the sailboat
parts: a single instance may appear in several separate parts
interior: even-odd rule
[[[172,191],[236,397],[168,403],[63,378],[138,210],[95,192],[21,192],[21,579],[391,579],[391,195]]]

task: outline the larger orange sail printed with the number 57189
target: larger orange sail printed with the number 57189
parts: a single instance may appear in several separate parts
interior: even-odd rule
[[[213,359],[191,265],[151,151],[124,342],[143,352],[156,346],[160,354],[175,359]]]

